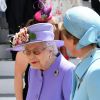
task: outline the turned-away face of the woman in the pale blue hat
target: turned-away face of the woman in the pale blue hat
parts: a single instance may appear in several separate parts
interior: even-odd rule
[[[72,38],[67,38],[66,36],[63,35],[64,38],[64,45],[66,49],[69,51],[72,57],[78,57],[78,54],[80,50],[76,49],[76,44],[74,43],[74,40]]]

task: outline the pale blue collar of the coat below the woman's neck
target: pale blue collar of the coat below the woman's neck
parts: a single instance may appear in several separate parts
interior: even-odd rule
[[[82,79],[87,70],[89,69],[90,65],[99,58],[100,58],[100,49],[97,48],[93,49],[92,52],[90,52],[90,54],[77,65],[75,69],[75,74],[77,75],[77,77],[79,79]]]

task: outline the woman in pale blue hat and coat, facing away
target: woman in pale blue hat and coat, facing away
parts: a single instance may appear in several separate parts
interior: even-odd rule
[[[100,16],[87,7],[73,7],[62,25],[65,45],[81,58],[73,77],[71,100],[100,100]]]

